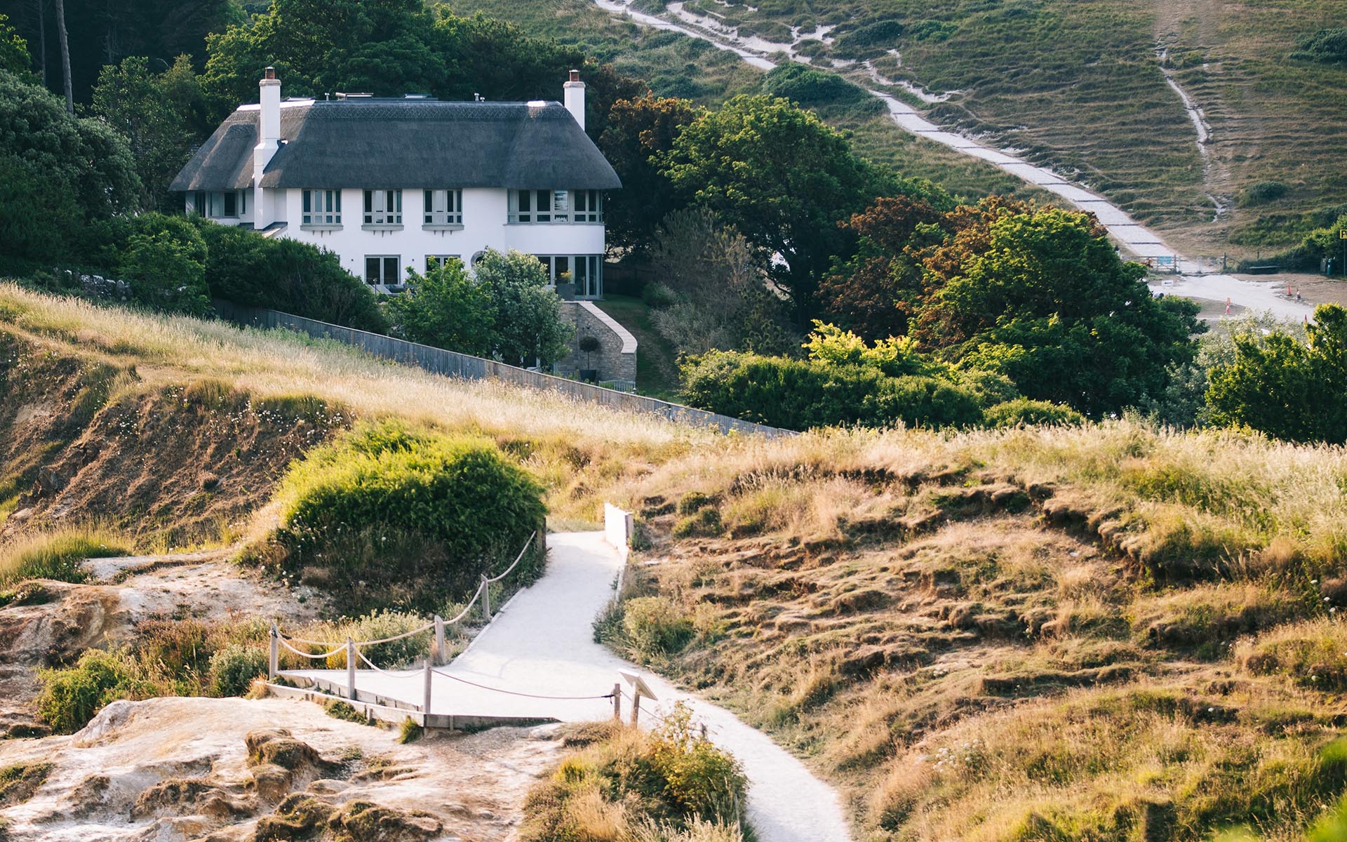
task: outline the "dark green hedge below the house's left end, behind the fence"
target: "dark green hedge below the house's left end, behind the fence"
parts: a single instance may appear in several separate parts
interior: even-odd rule
[[[369,284],[327,249],[194,218],[207,248],[211,298],[384,333],[388,321]]]

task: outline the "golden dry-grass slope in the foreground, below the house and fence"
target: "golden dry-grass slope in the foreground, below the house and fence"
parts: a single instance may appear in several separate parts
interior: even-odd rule
[[[718,436],[12,286],[0,338],[9,493],[85,467],[5,540],[51,517],[155,540],[205,504],[242,531],[317,407],[481,432],[554,528],[638,512],[599,630],[797,750],[861,838],[1290,841],[1347,789],[1343,449],[1133,422]],[[238,453],[273,463],[244,477]],[[117,484],[113,462],[167,474]]]

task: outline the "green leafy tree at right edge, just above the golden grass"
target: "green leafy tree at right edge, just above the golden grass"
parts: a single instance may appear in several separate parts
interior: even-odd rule
[[[1321,304],[1305,342],[1285,331],[1234,337],[1235,358],[1211,370],[1212,423],[1297,442],[1347,443],[1347,310]]]

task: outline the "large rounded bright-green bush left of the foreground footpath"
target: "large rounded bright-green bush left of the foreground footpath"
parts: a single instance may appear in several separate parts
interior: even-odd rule
[[[277,492],[279,552],[263,560],[303,571],[345,610],[435,610],[515,559],[543,528],[541,497],[488,439],[362,424],[291,466]],[[513,581],[536,578],[544,555],[535,540]]]

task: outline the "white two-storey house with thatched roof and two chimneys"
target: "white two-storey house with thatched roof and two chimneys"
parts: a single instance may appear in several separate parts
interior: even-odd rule
[[[603,191],[617,172],[585,133],[585,84],[564,105],[424,96],[280,98],[268,67],[174,179],[187,213],[334,251],[381,291],[447,256],[519,249],[603,294]]]

